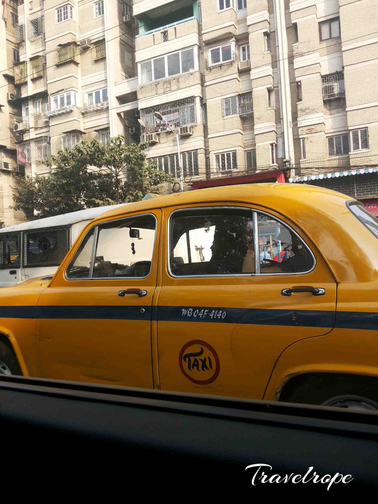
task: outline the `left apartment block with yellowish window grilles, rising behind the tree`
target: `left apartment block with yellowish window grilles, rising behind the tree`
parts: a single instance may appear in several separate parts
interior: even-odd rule
[[[124,134],[127,142],[138,142],[139,133],[136,105],[128,104],[136,101],[131,4],[123,0],[7,3],[6,31],[0,30],[6,37],[0,44],[4,67],[0,101],[5,109],[0,144],[4,144],[1,166],[5,163],[9,170],[5,175],[2,169],[3,194],[10,201],[3,204],[3,214],[0,208],[0,220],[12,224],[20,218],[9,209],[9,185],[14,185],[15,173],[46,174],[44,159],[81,140],[97,138],[107,143]]]

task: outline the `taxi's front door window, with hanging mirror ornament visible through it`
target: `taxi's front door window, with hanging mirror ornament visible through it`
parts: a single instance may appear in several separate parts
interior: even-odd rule
[[[146,277],[151,270],[156,218],[151,215],[111,221],[87,235],[67,270],[72,278]]]

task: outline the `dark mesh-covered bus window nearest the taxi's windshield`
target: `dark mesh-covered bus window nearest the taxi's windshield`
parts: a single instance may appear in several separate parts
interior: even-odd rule
[[[59,265],[69,250],[69,230],[65,228],[24,232],[24,267]]]

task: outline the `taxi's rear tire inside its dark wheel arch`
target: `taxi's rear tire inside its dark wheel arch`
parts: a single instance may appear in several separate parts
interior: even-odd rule
[[[299,382],[288,398],[281,400],[297,404],[378,410],[376,383],[366,376],[347,374],[309,375]],[[358,402],[362,408],[357,405],[353,408],[352,403]]]

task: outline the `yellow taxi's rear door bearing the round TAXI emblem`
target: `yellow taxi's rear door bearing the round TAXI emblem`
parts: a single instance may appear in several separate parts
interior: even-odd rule
[[[274,212],[223,204],[165,211],[160,388],[261,399],[289,345],[332,330],[333,275]],[[245,263],[248,250],[255,266]]]

